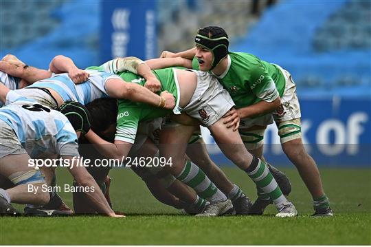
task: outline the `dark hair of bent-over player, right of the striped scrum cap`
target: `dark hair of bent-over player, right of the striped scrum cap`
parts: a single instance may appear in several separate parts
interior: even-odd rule
[[[101,133],[116,124],[118,105],[114,98],[98,98],[87,105],[91,115],[91,129]]]

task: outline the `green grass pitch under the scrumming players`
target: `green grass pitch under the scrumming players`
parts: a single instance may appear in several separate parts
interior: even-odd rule
[[[255,186],[238,169],[224,169],[229,178],[255,199]],[[111,198],[124,219],[108,217],[0,217],[0,244],[212,244],[212,245],[352,245],[371,244],[371,169],[321,169],[334,217],[313,218],[311,197],[295,169],[282,169],[293,184],[289,199],[300,216],[196,218],[179,215],[150,195],[144,182],[128,169],[111,171]],[[58,183],[71,184],[63,169]],[[61,193],[71,206],[71,195]]]

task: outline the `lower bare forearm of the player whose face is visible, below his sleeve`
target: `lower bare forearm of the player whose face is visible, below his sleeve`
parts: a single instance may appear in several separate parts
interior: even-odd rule
[[[280,106],[280,97],[272,102],[260,101],[254,105],[238,109],[240,118],[253,118],[262,114],[269,114]]]

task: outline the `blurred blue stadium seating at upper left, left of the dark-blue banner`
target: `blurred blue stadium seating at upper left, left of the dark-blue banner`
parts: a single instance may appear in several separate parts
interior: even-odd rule
[[[2,1],[6,8],[0,14],[12,21],[1,23],[0,56],[12,53],[45,69],[57,54],[70,56],[79,67],[98,64],[100,1],[63,2]]]

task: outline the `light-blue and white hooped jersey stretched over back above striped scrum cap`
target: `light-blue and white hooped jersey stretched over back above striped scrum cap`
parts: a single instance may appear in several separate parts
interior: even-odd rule
[[[106,81],[111,78],[120,78],[120,76],[91,69],[86,69],[86,71],[90,75],[88,80],[78,85],[74,84],[68,73],[63,73],[39,80],[28,87],[47,87],[60,94],[63,100],[78,101],[82,105],[87,105],[97,98],[109,97],[105,88]]]

